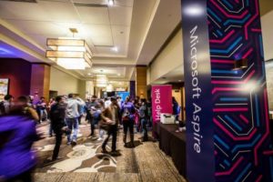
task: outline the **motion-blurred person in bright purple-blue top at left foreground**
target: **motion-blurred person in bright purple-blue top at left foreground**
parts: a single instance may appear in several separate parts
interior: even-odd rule
[[[31,182],[35,153],[31,147],[40,137],[36,133],[35,110],[20,96],[6,116],[0,116],[0,180]]]

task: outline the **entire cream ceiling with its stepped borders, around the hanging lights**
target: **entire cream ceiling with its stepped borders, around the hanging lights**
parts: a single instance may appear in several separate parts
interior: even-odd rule
[[[129,81],[134,78],[134,66],[148,65],[180,23],[180,0],[114,0],[113,6],[107,6],[107,2],[1,0],[0,57],[17,56],[54,65],[45,58],[46,38],[71,36],[68,28],[76,27],[76,36],[85,38],[94,52],[93,67],[66,72],[88,80],[104,70],[112,81]],[[267,2],[260,0],[262,15],[269,11],[264,7],[269,6]],[[112,50],[113,46],[118,51]],[[5,49],[12,51],[6,53]],[[173,70],[165,81],[177,81],[182,75]]]

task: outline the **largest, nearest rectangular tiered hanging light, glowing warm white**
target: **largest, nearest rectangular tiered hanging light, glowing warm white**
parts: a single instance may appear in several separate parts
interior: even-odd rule
[[[75,28],[70,28],[70,31],[73,35],[77,33]],[[92,52],[84,39],[47,38],[46,45],[51,50],[46,50],[45,56],[59,66],[66,69],[85,69],[92,66]]]

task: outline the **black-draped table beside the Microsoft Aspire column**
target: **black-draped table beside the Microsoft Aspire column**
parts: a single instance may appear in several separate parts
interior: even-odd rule
[[[175,124],[156,124],[159,147],[172,157],[179,173],[186,177],[186,132],[177,133]]]

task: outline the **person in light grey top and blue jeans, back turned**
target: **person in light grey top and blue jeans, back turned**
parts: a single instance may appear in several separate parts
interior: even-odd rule
[[[76,136],[77,136],[77,129],[78,129],[78,117],[79,115],[79,108],[81,103],[76,100],[74,94],[69,94],[67,101],[66,101],[66,125],[72,131],[73,135],[71,138],[71,134],[67,135],[67,145],[76,145]]]

